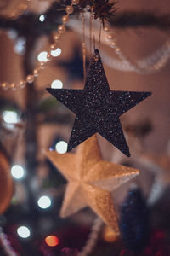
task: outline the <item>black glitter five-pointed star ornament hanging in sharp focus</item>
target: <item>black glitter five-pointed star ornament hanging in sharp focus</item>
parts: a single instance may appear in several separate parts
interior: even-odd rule
[[[95,49],[84,90],[47,90],[77,115],[68,151],[99,132],[123,154],[130,156],[119,117],[144,101],[150,92],[110,90],[98,49]]]

